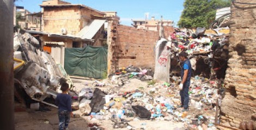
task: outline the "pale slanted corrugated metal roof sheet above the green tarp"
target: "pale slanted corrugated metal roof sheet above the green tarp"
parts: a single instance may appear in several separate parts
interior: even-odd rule
[[[77,37],[82,39],[92,39],[94,35],[99,31],[106,20],[94,19],[90,24],[86,25],[78,34]]]

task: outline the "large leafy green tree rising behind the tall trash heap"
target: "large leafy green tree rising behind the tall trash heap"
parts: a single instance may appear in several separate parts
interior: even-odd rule
[[[185,0],[178,25],[180,28],[208,28],[215,19],[216,10],[230,4],[231,0]]]

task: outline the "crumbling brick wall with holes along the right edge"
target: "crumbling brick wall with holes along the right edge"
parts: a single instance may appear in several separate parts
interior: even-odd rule
[[[221,105],[221,122],[239,127],[256,114],[256,6],[251,0],[236,0],[231,6],[227,92]]]

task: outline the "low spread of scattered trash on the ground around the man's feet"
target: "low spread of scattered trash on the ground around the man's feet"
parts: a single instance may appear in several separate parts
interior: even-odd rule
[[[216,129],[216,104],[221,105],[220,81],[196,76],[191,79],[190,111],[179,108],[179,77],[172,77],[172,83],[151,83],[147,89],[119,92],[115,88],[101,91],[99,88],[83,88],[78,94],[82,115],[89,120],[112,120],[113,128],[134,127],[129,121],[170,120],[184,122],[190,129]],[[216,102],[218,99],[218,103]]]

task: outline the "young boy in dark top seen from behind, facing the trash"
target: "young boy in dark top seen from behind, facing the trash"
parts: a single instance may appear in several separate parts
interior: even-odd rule
[[[71,109],[71,96],[68,95],[68,83],[63,83],[60,90],[62,90],[62,93],[58,94],[56,98],[59,115],[59,130],[67,130],[70,116],[73,116]]]

